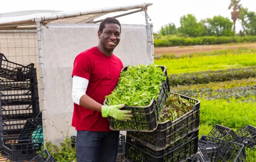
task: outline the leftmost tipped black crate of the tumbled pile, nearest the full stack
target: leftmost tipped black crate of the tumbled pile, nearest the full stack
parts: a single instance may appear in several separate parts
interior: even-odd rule
[[[200,151],[202,159],[209,160],[210,162],[217,162],[218,156],[220,153],[219,146],[213,145],[213,144],[205,144],[198,142],[198,151]]]

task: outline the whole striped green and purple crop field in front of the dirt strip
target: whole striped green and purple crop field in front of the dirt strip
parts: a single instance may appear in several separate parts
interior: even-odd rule
[[[167,67],[172,92],[200,100],[199,138],[216,124],[232,128],[256,127],[256,52],[211,52],[182,57],[164,55],[154,61]],[[246,162],[256,149],[246,148]]]

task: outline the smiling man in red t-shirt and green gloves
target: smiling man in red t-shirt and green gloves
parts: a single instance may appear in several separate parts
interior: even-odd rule
[[[98,45],[78,54],[74,61],[72,126],[77,131],[77,162],[115,162],[119,131],[109,129],[107,117],[124,121],[132,117],[131,111],[120,110],[124,104],[103,106],[123,68],[121,60],[113,54],[120,34],[119,21],[106,18],[99,27]]]

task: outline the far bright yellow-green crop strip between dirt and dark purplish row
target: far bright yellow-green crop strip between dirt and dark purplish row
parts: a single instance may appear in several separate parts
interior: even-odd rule
[[[194,58],[158,59],[157,65],[164,65],[168,74],[191,73],[206,70],[223,70],[256,65],[256,53],[198,56]]]

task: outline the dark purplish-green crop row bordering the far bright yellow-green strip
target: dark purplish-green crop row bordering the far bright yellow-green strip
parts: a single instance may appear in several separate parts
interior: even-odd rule
[[[208,70],[194,73],[168,75],[172,87],[180,85],[207,84],[211,82],[232,81],[256,77],[256,66],[232,68],[225,70]]]

